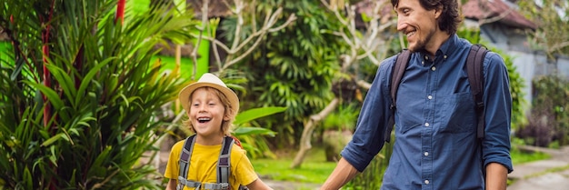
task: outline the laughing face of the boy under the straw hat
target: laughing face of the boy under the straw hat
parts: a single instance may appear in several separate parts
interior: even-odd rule
[[[200,87],[195,89],[190,97],[190,112],[188,113],[191,127],[198,136],[205,138],[223,136],[223,124],[229,121],[225,115],[225,105],[222,103],[214,88]]]

